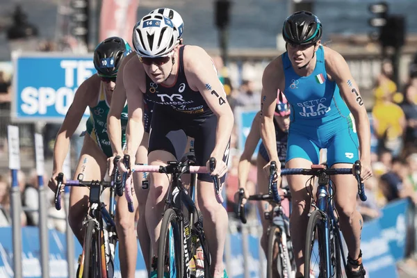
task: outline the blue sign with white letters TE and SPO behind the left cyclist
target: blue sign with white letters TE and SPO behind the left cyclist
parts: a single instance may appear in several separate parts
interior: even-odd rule
[[[17,56],[14,65],[12,117],[20,122],[62,122],[76,90],[96,73],[92,54],[25,54]]]

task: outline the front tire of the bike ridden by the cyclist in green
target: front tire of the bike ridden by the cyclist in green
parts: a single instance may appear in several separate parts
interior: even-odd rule
[[[99,248],[97,248],[96,233],[97,224],[94,221],[87,222],[85,229],[85,244],[84,244],[84,268],[83,278],[101,277],[101,260],[99,259]],[[97,257],[98,256],[98,257]],[[91,273],[90,273],[91,270]]]

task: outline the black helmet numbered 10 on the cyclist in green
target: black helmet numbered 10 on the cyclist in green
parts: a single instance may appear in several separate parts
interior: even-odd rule
[[[129,44],[119,37],[106,38],[94,51],[94,66],[97,74],[103,77],[115,77],[122,60],[131,53]]]

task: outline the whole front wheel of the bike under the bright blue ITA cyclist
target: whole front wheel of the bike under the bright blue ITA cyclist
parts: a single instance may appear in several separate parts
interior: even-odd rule
[[[323,244],[322,213],[313,211],[309,217],[304,252],[304,277],[328,277],[325,268],[325,245]]]

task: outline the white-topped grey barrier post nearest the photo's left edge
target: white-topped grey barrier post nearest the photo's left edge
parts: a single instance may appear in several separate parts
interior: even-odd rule
[[[20,198],[19,181],[17,171],[20,170],[19,127],[8,126],[8,155],[9,169],[12,174],[12,188],[10,189],[10,201],[12,207],[12,231],[13,231],[13,272],[15,277],[22,277],[22,199]]]

